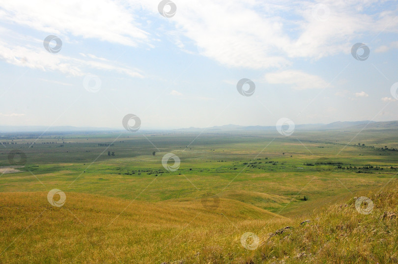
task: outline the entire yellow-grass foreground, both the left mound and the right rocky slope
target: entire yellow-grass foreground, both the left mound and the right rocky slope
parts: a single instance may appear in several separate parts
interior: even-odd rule
[[[199,201],[176,205],[68,193],[65,206],[55,208],[46,193],[0,193],[0,241],[9,245],[0,260],[396,263],[397,184],[372,193],[358,194],[374,203],[370,214],[359,213],[353,197],[312,214],[310,221],[278,217],[224,198],[217,210],[206,210]],[[253,251],[242,246],[245,232],[258,236]]]

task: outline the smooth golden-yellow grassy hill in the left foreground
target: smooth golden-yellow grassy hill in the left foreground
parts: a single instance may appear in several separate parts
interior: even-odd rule
[[[66,195],[57,208],[47,193],[0,193],[2,263],[161,263],[198,252],[212,259],[218,251],[236,259],[252,253],[239,242],[243,233],[261,230],[267,219],[274,219],[273,229],[288,221],[227,199],[213,211],[199,200],[167,204]]]

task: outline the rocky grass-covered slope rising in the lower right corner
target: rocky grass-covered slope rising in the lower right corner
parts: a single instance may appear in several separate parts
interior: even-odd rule
[[[356,206],[356,198],[297,221],[281,234],[264,238],[255,263],[397,263],[398,185],[366,195],[374,207]],[[369,214],[359,213],[357,211]],[[367,211],[368,210],[368,211]]]

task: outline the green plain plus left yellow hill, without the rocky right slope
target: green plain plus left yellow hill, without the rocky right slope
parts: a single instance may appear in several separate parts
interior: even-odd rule
[[[311,250],[293,258],[297,243],[270,250],[264,236],[391,188],[398,174],[396,130],[9,134],[0,141],[9,142],[0,145],[0,166],[15,165],[10,151],[26,156],[14,157],[21,172],[0,177],[1,263],[325,262],[321,254],[311,260]],[[162,165],[168,153],[181,160],[174,172]],[[47,201],[55,188],[66,196],[61,207]],[[242,246],[245,232],[260,238],[256,250]],[[346,261],[383,262],[380,256]]]

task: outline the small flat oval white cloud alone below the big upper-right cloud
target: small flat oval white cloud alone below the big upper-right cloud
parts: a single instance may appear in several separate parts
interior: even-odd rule
[[[328,83],[319,76],[296,70],[267,73],[264,79],[272,84],[288,84],[296,90],[320,89],[328,86]]]

